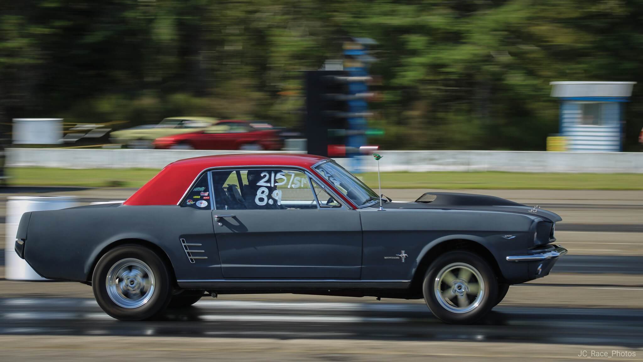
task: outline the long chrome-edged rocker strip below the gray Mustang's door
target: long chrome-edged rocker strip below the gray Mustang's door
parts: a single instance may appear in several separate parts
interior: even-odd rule
[[[177,280],[181,288],[213,289],[408,289],[410,280]]]

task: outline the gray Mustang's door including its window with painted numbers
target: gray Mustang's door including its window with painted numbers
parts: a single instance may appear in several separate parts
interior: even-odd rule
[[[304,171],[212,171],[212,187],[224,278],[360,278],[359,213],[317,200]]]

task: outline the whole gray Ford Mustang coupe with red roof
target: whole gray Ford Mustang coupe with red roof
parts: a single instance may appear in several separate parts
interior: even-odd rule
[[[546,276],[561,218],[502,198],[378,196],[312,155],[174,162],[123,204],[24,213],[15,251],[44,278],[80,281],[122,320],[205,295],[424,298],[473,323],[509,285]]]

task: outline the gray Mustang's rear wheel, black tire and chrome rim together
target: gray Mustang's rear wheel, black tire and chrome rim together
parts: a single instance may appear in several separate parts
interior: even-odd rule
[[[155,252],[123,245],[98,260],[91,285],[105,313],[122,321],[140,321],[165,310],[172,297],[170,280]]]

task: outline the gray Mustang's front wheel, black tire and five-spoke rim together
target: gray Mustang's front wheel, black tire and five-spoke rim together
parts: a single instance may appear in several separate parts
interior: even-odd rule
[[[498,282],[483,258],[469,251],[450,251],[431,263],[422,284],[433,315],[446,323],[470,324],[495,306]]]

